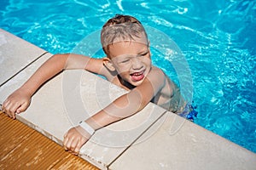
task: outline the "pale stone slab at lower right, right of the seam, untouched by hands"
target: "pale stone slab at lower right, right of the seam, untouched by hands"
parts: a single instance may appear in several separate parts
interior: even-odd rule
[[[170,112],[160,120],[165,122],[156,133],[143,143],[133,144],[109,169],[255,169],[253,152]]]

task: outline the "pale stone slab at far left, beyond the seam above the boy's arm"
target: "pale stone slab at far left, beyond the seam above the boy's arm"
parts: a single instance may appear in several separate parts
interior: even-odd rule
[[[46,52],[0,29],[0,86]]]

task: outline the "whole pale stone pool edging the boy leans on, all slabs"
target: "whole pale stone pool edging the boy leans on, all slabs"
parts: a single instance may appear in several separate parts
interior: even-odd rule
[[[0,104],[52,54],[0,30]],[[126,91],[87,71],[63,71],[17,119],[57,144],[64,133]],[[64,152],[64,150],[63,150]],[[101,169],[255,169],[256,155],[149,104],[98,130],[79,155]]]

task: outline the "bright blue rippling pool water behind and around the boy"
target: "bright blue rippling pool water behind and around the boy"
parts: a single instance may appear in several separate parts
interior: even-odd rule
[[[256,152],[255,1],[2,0],[0,26],[50,53],[69,53],[114,14],[171,37],[191,71],[195,123]],[[152,50],[154,64],[179,83],[170,59]]]

